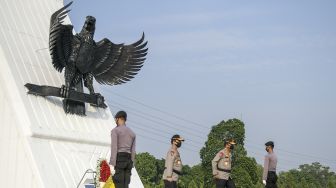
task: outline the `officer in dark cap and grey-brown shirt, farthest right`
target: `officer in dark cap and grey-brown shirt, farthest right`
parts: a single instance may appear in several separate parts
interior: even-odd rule
[[[274,153],[274,142],[269,141],[265,143],[265,150],[267,155],[265,155],[264,160],[264,172],[263,172],[263,184],[265,188],[277,188],[278,177],[276,175],[276,166],[278,163],[278,158]]]

